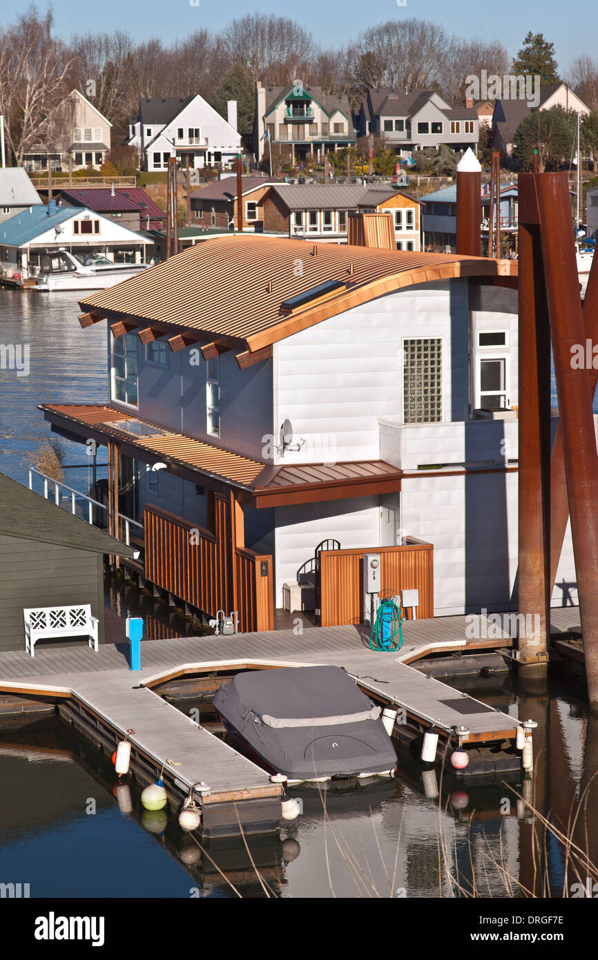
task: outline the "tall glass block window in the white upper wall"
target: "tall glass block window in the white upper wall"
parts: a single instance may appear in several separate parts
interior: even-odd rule
[[[443,420],[443,341],[403,341],[403,421]]]

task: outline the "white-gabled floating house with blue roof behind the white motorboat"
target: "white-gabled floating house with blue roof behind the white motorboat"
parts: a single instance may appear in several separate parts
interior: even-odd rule
[[[0,224],[0,266],[5,276],[36,276],[40,258],[65,249],[98,253],[113,263],[142,263],[148,237],[121,227],[85,206],[29,206]],[[66,266],[64,269],[68,269]]]

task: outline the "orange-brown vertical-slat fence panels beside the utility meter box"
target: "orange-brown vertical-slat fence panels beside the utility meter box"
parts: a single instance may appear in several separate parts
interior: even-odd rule
[[[408,538],[406,546],[326,550],[320,554],[321,626],[363,623],[363,555],[380,554],[381,590],[419,590],[418,619],[434,616],[434,548]],[[404,615],[404,612],[403,612]]]

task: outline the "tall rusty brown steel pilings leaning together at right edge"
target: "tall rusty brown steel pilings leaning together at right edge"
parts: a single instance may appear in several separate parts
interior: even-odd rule
[[[570,205],[566,174],[522,174],[519,177],[519,612],[545,611],[545,627],[536,643],[538,663],[547,651],[549,593],[552,586],[548,531],[551,516],[550,463],[546,437],[550,429],[548,330],[550,318],[560,409],[562,473],[557,448],[553,474],[560,517],[552,543],[556,572],[566,488],[571,537],[584,639],[590,708],[598,711],[598,453],[592,413],[591,363],[574,363],[576,349],[586,348],[585,321],[591,325],[595,299],[582,312],[575,250],[570,238]],[[546,310],[547,306],[547,310]],[[559,438],[557,438],[559,439]],[[549,447],[548,447],[549,449]],[[544,598],[547,598],[545,601]],[[530,609],[535,608],[535,609]],[[543,649],[542,649],[543,648]],[[519,662],[527,667],[530,644],[519,643]],[[543,657],[547,659],[547,654]],[[533,667],[533,669],[538,669]]]

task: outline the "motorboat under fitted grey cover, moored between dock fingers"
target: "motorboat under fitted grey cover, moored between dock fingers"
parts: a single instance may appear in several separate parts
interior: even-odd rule
[[[238,674],[220,687],[214,706],[265,766],[289,780],[395,769],[395,748],[380,708],[340,667]]]

